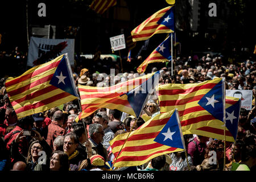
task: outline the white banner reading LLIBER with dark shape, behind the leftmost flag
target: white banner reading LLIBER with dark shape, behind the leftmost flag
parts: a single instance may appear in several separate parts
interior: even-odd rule
[[[31,37],[28,47],[27,66],[46,63],[68,53],[71,66],[74,65],[75,39],[44,39]]]

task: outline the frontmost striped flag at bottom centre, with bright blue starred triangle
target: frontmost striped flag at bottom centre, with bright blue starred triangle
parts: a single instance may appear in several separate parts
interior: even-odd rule
[[[138,129],[131,131],[130,135],[129,133],[117,135],[110,141],[116,158],[114,167],[139,166],[156,156],[183,151],[176,117],[175,110],[158,114]],[[129,138],[126,140],[128,135]],[[172,145],[181,148],[170,147]]]

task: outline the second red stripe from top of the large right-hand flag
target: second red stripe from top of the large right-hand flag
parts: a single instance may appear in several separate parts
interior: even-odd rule
[[[160,106],[164,107],[164,106],[185,105],[189,102],[199,101],[204,96],[205,96],[205,94],[199,95],[199,96],[188,97],[188,98],[184,98],[184,99],[180,99],[180,100],[160,101],[161,102]]]

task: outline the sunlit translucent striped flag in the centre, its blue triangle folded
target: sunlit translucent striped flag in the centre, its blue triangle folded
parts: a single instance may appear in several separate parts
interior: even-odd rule
[[[139,117],[149,93],[155,89],[162,71],[137,77],[109,87],[79,85],[82,112],[78,121],[101,107],[118,109]]]

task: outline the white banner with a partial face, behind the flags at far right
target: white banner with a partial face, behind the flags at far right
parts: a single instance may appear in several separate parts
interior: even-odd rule
[[[226,96],[241,98],[241,108],[251,110],[253,90],[226,90]]]

